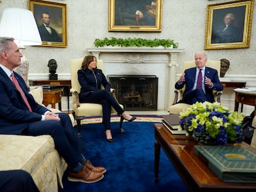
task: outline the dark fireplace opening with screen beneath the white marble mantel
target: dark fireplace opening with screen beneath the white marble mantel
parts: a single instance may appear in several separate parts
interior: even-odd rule
[[[107,78],[124,110],[157,110],[158,78],[155,75],[108,75]]]

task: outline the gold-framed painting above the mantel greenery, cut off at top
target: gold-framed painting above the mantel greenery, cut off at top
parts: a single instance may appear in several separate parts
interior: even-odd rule
[[[108,30],[161,32],[163,0],[139,2],[109,0]]]

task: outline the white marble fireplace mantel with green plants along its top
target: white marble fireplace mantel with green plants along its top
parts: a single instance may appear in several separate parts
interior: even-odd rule
[[[164,63],[166,64],[166,73],[164,80],[164,104],[160,105],[160,110],[168,109],[174,99],[174,83],[176,82],[176,69],[179,66],[178,54],[184,49],[171,48],[88,48],[90,54],[98,59],[103,59],[111,63]],[[159,91],[158,91],[159,92]]]

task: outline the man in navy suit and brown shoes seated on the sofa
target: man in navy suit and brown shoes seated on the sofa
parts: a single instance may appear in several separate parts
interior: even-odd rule
[[[82,143],[69,115],[54,114],[38,104],[22,77],[13,71],[22,57],[13,38],[0,37],[0,134],[51,135],[56,150],[69,165],[73,182],[98,182],[106,172],[93,167],[82,154]],[[15,156],[15,154],[14,154]]]

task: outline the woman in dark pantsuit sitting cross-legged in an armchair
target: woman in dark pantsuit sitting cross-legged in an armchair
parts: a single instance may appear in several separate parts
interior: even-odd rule
[[[97,59],[95,56],[85,56],[81,69],[78,70],[78,79],[81,86],[79,93],[80,102],[98,103],[103,109],[103,124],[105,127],[106,140],[113,143],[111,135],[110,118],[111,107],[113,107],[121,118],[132,122],[136,117],[127,114],[116,99],[110,93],[110,84],[106,80],[102,70],[97,69]],[[105,90],[101,90],[101,85]]]

